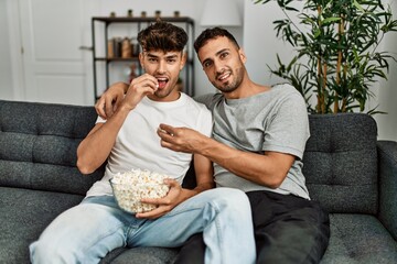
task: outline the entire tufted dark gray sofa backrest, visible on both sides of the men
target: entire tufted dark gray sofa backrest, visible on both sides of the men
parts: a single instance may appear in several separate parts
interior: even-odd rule
[[[94,127],[93,107],[0,100],[0,186],[85,195],[104,167],[83,176],[76,148]],[[303,174],[330,212],[377,211],[377,128],[364,113],[309,116]],[[190,182],[189,182],[190,180]],[[184,186],[195,184],[190,169]]]

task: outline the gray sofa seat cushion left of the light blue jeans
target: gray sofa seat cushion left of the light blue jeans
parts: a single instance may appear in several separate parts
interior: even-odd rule
[[[79,195],[0,187],[0,256],[29,263],[29,244],[50,222],[83,199]]]

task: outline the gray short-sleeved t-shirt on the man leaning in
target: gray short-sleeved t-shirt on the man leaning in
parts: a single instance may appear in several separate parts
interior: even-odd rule
[[[301,162],[310,136],[309,119],[305,102],[292,86],[277,85],[268,91],[242,99],[225,99],[222,94],[216,94],[206,105],[213,111],[213,138],[216,141],[240,151],[258,154],[273,151],[297,157],[277,189],[238,177],[214,164],[217,187],[234,187],[244,191],[270,190],[310,199]]]

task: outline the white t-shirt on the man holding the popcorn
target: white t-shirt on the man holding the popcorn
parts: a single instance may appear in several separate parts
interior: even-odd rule
[[[106,122],[98,118],[97,122]],[[160,145],[160,123],[185,127],[211,136],[213,120],[210,110],[181,92],[176,101],[158,102],[144,97],[128,114],[108,157],[105,175],[87,196],[112,195],[109,179],[132,168],[167,174],[182,184],[192,154],[174,152]]]

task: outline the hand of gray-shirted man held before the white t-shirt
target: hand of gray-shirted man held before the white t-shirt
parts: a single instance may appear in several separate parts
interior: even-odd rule
[[[168,124],[160,124],[157,133],[161,138],[161,146],[185,153],[200,153],[203,141],[208,139],[195,130]]]

